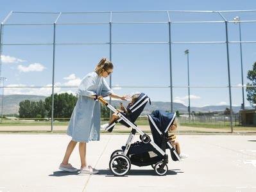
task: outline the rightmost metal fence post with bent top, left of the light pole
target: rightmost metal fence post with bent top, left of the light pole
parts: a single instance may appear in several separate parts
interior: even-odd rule
[[[218,12],[219,13],[219,12]],[[228,91],[229,91],[229,106],[230,106],[230,129],[233,130],[233,110],[232,110],[232,95],[231,95],[231,83],[230,83],[230,61],[229,61],[229,51],[228,51],[228,21],[219,13],[223,20],[225,20],[225,32],[226,32],[226,60],[228,64]]]

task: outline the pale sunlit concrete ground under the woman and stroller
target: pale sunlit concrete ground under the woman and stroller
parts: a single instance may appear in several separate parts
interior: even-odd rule
[[[128,175],[114,177],[109,157],[127,138],[101,134],[90,142],[87,161],[99,174],[81,175],[58,170],[69,136],[0,134],[0,191],[256,191],[256,135],[180,135],[189,158],[169,158],[166,176],[132,165]],[[70,163],[80,168],[78,146]]]

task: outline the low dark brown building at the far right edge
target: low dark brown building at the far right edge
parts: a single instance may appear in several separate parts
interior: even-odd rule
[[[239,111],[240,124],[243,126],[256,125],[256,109],[245,109]]]

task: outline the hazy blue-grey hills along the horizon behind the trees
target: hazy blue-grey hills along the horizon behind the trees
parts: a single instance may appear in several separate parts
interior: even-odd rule
[[[19,102],[22,100],[44,100],[46,99],[45,96],[38,96],[38,95],[4,95],[4,107],[3,107],[3,114],[18,114],[19,113]],[[119,101],[119,100],[112,100],[112,106],[119,107],[119,103],[123,102],[124,106],[128,104],[128,101]],[[2,104],[2,95],[0,95],[0,106]],[[195,112],[208,112],[208,111],[225,111],[226,108],[229,106],[205,106],[202,108],[191,107],[191,111]],[[253,109],[251,107],[246,107],[247,109]],[[170,102],[151,102],[151,105],[147,104],[146,108],[142,112],[142,115],[146,115],[151,113],[152,111],[159,109],[163,111],[170,111],[171,103]],[[187,106],[183,104],[174,102],[173,103],[174,111],[180,111],[181,113],[187,113]],[[0,108],[1,110],[1,108]],[[237,113],[240,110],[240,107],[233,106],[233,110]]]

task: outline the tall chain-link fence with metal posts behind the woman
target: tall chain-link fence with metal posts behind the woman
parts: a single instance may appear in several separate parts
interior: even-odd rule
[[[232,20],[234,14],[237,15],[243,13],[250,13],[250,17],[244,20]],[[130,14],[133,13],[131,16]],[[110,60],[112,57],[115,58],[117,63],[122,63],[123,56],[129,52],[131,55],[139,54],[137,63],[149,63],[150,60],[153,63],[157,63],[157,59],[154,57],[150,58],[151,53],[156,51],[156,49],[161,49],[162,51],[159,53],[159,57],[165,58],[163,63],[157,63],[157,68],[161,70],[157,72],[155,70],[155,64],[151,63],[151,65],[146,65],[146,70],[155,72],[155,76],[161,77],[158,78],[158,84],[167,84],[164,86],[158,86],[157,83],[151,82],[151,77],[147,76],[143,71],[133,70],[137,67],[137,63],[133,63],[130,59],[132,56],[128,58],[126,56],[126,60],[128,60],[126,65],[116,68],[116,73],[118,72],[122,76],[125,77],[127,71],[133,72],[133,76],[142,77],[142,83],[139,86],[136,86],[138,82],[133,81],[133,78],[130,78],[130,82],[133,85],[126,84],[123,79],[115,78],[114,74],[111,79],[108,79],[112,88],[114,88],[116,93],[123,94],[125,92],[131,93],[135,91],[144,92],[151,97],[153,100],[151,107],[147,106],[144,110],[144,113],[138,118],[137,125],[142,126],[142,129],[149,131],[147,114],[151,113],[154,109],[162,109],[164,111],[176,111],[180,115],[178,115],[178,120],[180,124],[180,132],[255,132],[255,127],[242,127],[241,126],[241,117],[239,113],[235,111],[235,113],[224,114],[225,109],[223,111],[211,111],[207,113],[207,111],[197,111],[196,113],[192,113],[192,105],[193,102],[190,102],[191,90],[195,90],[194,92],[205,92],[205,90],[213,90],[214,89],[223,89],[225,88],[226,93],[219,97],[225,97],[226,101],[229,101],[229,106],[227,108],[232,111],[232,92],[236,95],[238,94],[238,88],[244,88],[244,84],[240,85],[232,85],[230,81],[231,76],[237,76],[237,72],[235,68],[235,73],[230,73],[230,63],[233,60],[239,60],[240,58],[230,58],[229,53],[235,52],[239,47],[235,47],[234,45],[241,44],[253,44],[255,41],[253,40],[241,40],[241,26],[240,24],[254,24],[256,22],[255,15],[251,13],[255,13],[255,10],[248,11],[237,11],[237,12],[218,12],[218,11],[167,11],[167,12],[153,12],[154,17],[153,20],[146,20],[142,14],[148,14],[149,12],[89,12],[89,13],[37,13],[37,12],[11,12],[6,19],[1,23],[1,38],[0,38],[0,56],[1,56],[1,97],[0,97],[0,108],[1,108],[1,124],[0,131],[65,131],[67,128],[69,118],[73,112],[74,105],[76,104],[76,88],[81,81],[80,77],[83,77],[88,72],[91,72],[91,69],[94,68],[93,63],[98,63],[99,58],[102,56],[109,56]],[[195,20],[183,20],[182,17],[177,17],[178,14],[185,15],[185,13],[189,14],[190,19],[194,18]],[[230,14],[232,13],[232,14]],[[94,14],[103,14],[104,20],[99,19],[98,16],[91,17]],[[123,14],[123,15],[122,15]],[[195,14],[203,14],[195,16]],[[207,16],[214,15],[213,19],[209,19]],[[37,22],[37,17],[32,18],[32,22],[19,22],[19,20],[15,20],[12,18],[12,15],[47,15],[47,17],[40,17],[41,23]],[[49,15],[51,17],[49,17]],[[80,20],[78,17],[68,17],[69,15],[90,15],[90,17],[82,17]],[[119,17],[122,15],[122,17]],[[137,15],[136,17],[134,15]],[[65,17],[69,18],[66,21]],[[108,18],[106,19],[106,18]],[[130,21],[130,17],[132,19],[139,20]],[[218,17],[218,19],[216,19]],[[44,18],[44,19],[42,19]],[[117,19],[117,20],[114,20]],[[123,18],[124,20],[122,20]],[[166,20],[163,21],[163,18]],[[177,19],[178,18],[178,19]],[[141,19],[141,20],[140,20]],[[7,22],[7,21],[11,22]],[[52,22],[52,20],[54,22]],[[240,32],[240,40],[233,40],[235,28],[234,24],[239,24],[239,32]],[[182,31],[184,30],[183,25],[191,25],[191,24],[207,24],[208,26],[212,25],[213,28],[216,26],[220,26],[218,33],[219,38],[213,38],[211,41],[207,40],[193,40],[193,34],[198,33],[196,31],[192,31],[191,34],[187,34],[185,36],[185,40],[173,40],[175,35],[179,33],[175,28],[176,25],[182,26]],[[128,29],[130,29],[130,25],[136,26],[133,29],[139,29],[141,32],[141,36],[136,36],[136,38],[129,38],[130,33],[128,33]],[[142,26],[140,26],[142,25]],[[155,33],[149,33],[152,29],[149,26],[153,26],[153,28],[157,31]],[[22,26],[21,30],[24,28],[35,29],[36,32],[33,35],[28,35],[26,31],[21,33],[18,30],[19,26]],[[46,36],[40,36],[39,31],[41,31],[44,26],[47,28]],[[79,30],[84,31],[86,35],[81,35],[77,33],[76,28],[73,26],[78,26]],[[24,28],[23,28],[24,27]],[[253,29],[253,26],[249,26]],[[14,28],[14,29],[13,29]],[[191,28],[196,29],[196,28]],[[204,28],[207,29],[207,28]],[[18,32],[16,34],[16,38],[13,37],[13,32]],[[146,30],[146,31],[145,31]],[[173,31],[172,31],[173,30]],[[229,30],[229,31],[228,31]],[[68,31],[68,33],[64,33],[64,31]],[[103,31],[99,33],[99,31]],[[248,30],[249,31],[249,30]],[[253,31],[253,30],[252,30]],[[51,33],[52,32],[52,33]],[[96,33],[97,32],[97,33]],[[123,32],[123,33],[121,33]],[[228,33],[232,40],[228,40]],[[122,35],[123,34],[123,35]],[[145,35],[147,34],[147,35]],[[157,40],[153,41],[152,39],[156,37],[155,34],[160,34],[160,37],[157,37]],[[96,40],[94,35],[96,35]],[[204,39],[211,38],[207,32],[203,32],[202,35]],[[15,36],[15,35],[14,35]],[[30,36],[30,38],[28,38]],[[142,40],[141,40],[142,38]],[[37,41],[39,40],[39,41]],[[42,42],[42,40],[46,40],[46,42]],[[152,40],[152,41],[151,41]],[[132,48],[128,48],[127,45],[131,45]],[[146,45],[147,47],[141,47]],[[203,77],[209,84],[207,85],[193,85],[189,84],[189,76],[187,77],[186,73],[183,73],[185,70],[175,70],[178,65],[180,65],[177,54],[185,50],[185,47],[190,45],[198,45],[196,49],[199,49],[200,54],[202,54],[203,47],[207,47],[207,49],[211,50],[211,47],[216,45],[221,46],[219,50],[221,50],[221,55],[226,59],[224,62],[228,65],[228,71],[223,68],[219,68],[219,81],[228,82],[228,85],[215,85],[214,79],[216,80],[216,76],[212,77]],[[22,48],[21,48],[22,47]],[[23,47],[25,47],[23,49]],[[138,48],[139,47],[139,48]],[[228,50],[230,48],[230,50]],[[247,47],[248,48],[248,47]],[[141,50],[144,52],[140,52]],[[70,55],[71,50],[73,50],[73,55]],[[21,59],[13,58],[9,56],[14,52],[20,52],[27,56],[35,55],[35,60],[40,53],[40,56],[43,56],[42,62],[47,63],[45,66],[42,66],[40,63],[33,63],[29,65],[29,67],[37,68],[37,70],[44,70],[43,76],[46,79],[46,83],[42,84],[37,81],[37,74],[28,74],[25,72],[29,71],[28,67],[24,67],[22,65],[18,65],[17,69],[19,72],[24,72],[20,77],[16,76],[8,76],[7,85],[5,74],[10,73],[13,69],[8,65],[3,65],[2,63],[22,63],[25,62]],[[246,51],[244,51],[246,52]],[[124,54],[125,53],[125,54]],[[149,54],[150,53],[150,54]],[[189,72],[189,49],[186,48],[186,60],[188,67],[187,70]],[[242,52],[241,53],[241,61],[242,61]],[[204,52],[204,54],[206,54]],[[81,60],[78,60],[78,56],[83,56]],[[120,55],[120,56],[119,56]],[[220,55],[220,54],[218,54]],[[214,54],[209,54],[211,58],[214,58]],[[211,59],[209,57],[209,60]],[[93,58],[93,59],[92,59]],[[149,59],[148,59],[149,58]],[[154,60],[155,59],[155,60]],[[85,63],[87,66],[84,67],[81,63]],[[70,65],[63,65],[66,61],[67,63],[71,63]],[[90,64],[89,64],[90,63]],[[178,63],[175,65],[175,63]],[[174,69],[173,69],[173,68]],[[226,66],[225,66],[226,67]],[[62,74],[62,69],[67,70],[69,74]],[[200,69],[203,67],[200,67]],[[205,67],[208,70],[209,66]],[[211,67],[214,69],[214,66]],[[36,70],[36,71],[37,71]],[[176,72],[173,72],[176,71]],[[216,70],[216,69],[214,69]],[[76,72],[75,74],[71,74]],[[217,71],[215,71],[217,72]],[[203,74],[203,72],[201,72]],[[242,70],[243,74],[243,70]],[[221,77],[223,76],[223,79]],[[224,78],[227,77],[226,79]],[[185,77],[187,79],[185,79]],[[194,76],[196,77],[196,76]],[[21,78],[21,79],[19,79]],[[161,79],[161,81],[160,81]],[[62,82],[64,81],[65,82]],[[188,80],[188,84],[187,84]],[[149,85],[146,84],[147,81]],[[175,83],[173,83],[173,81]],[[25,83],[21,83],[25,82]],[[62,83],[60,83],[62,82]],[[178,82],[178,83],[177,83]],[[203,81],[200,81],[200,83]],[[119,86],[119,83],[123,83],[122,86]],[[219,83],[219,82],[218,82]],[[238,84],[239,82],[235,82]],[[35,86],[37,84],[38,86]],[[52,85],[55,84],[53,87]],[[114,84],[114,86],[113,86]],[[189,98],[188,102],[184,102],[183,108],[178,108],[175,106],[175,92],[177,89],[183,89],[183,92],[187,92],[187,88],[189,90]],[[184,89],[185,88],[185,89]],[[190,90],[191,88],[191,90]],[[196,90],[197,89],[197,90]],[[200,91],[198,91],[201,89]],[[55,93],[54,95],[52,93]],[[72,93],[72,94],[71,94]],[[166,101],[164,104],[160,102],[155,102],[158,99],[158,95],[162,94],[165,97],[169,97],[168,102]],[[240,93],[239,93],[240,94]],[[243,90],[244,94],[244,90]],[[167,95],[167,96],[166,96]],[[209,95],[212,93],[209,92]],[[217,97],[217,95],[216,95]],[[178,98],[182,99],[182,98]],[[192,98],[193,99],[193,98]],[[244,95],[243,95],[243,105],[244,106]],[[192,104],[191,104],[192,103]],[[228,103],[228,102],[226,102]],[[119,106],[119,102],[112,100],[112,104],[116,107]],[[191,110],[190,110],[191,109]],[[53,110],[53,113],[52,113]],[[216,113],[214,113],[216,112]],[[101,109],[101,122],[108,122],[110,111],[103,107]],[[189,117],[190,115],[190,117]],[[122,131],[126,130],[124,127],[119,127],[117,130]],[[234,129],[234,130],[233,130]]]

